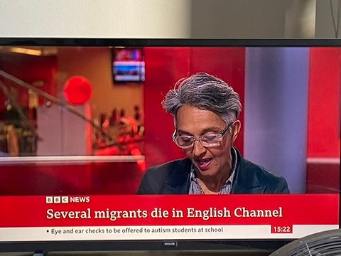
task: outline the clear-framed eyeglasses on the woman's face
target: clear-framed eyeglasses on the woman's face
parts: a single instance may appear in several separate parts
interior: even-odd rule
[[[173,142],[181,149],[190,149],[192,146],[194,146],[195,141],[199,141],[200,144],[205,147],[220,146],[220,143],[222,142],[222,137],[224,137],[227,130],[233,123],[234,122],[228,124],[227,127],[225,127],[225,129],[220,134],[207,134],[197,138],[190,135],[176,136],[175,134],[177,131],[175,130],[173,133]]]

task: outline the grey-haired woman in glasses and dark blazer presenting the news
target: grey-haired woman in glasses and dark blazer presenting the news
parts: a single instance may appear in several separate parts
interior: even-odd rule
[[[289,193],[283,177],[247,161],[233,146],[242,105],[226,82],[207,73],[183,78],[162,105],[173,114],[173,142],[187,158],[148,169],[137,193]]]

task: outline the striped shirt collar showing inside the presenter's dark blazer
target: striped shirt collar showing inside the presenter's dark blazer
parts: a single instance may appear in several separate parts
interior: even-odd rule
[[[232,191],[234,174],[236,173],[237,160],[238,160],[236,149],[234,149],[233,146],[232,146],[231,153],[232,153],[232,173],[227,179],[227,181],[224,183],[222,188],[220,189],[218,193],[220,195],[227,195],[227,194],[230,194]],[[195,167],[193,164],[191,165],[191,169],[190,169],[190,190],[188,191],[188,193],[190,195],[197,195],[197,194],[202,195],[203,194],[202,188],[199,182],[197,181],[197,175],[195,173]]]

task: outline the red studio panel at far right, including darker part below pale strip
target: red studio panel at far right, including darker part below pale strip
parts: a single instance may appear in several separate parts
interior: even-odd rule
[[[307,193],[340,188],[340,71],[340,48],[310,49]]]

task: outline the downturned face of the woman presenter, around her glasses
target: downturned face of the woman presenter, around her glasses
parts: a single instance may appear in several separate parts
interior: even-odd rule
[[[220,134],[225,127],[227,124],[217,114],[209,110],[183,105],[176,114],[178,136],[191,135],[197,138],[202,135]],[[200,176],[213,177],[231,169],[231,147],[237,138],[239,127],[240,122],[234,122],[232,132],[227,131],[220,146],[205,147],[196,140],[193,147],[184,150],[199,171]]]

